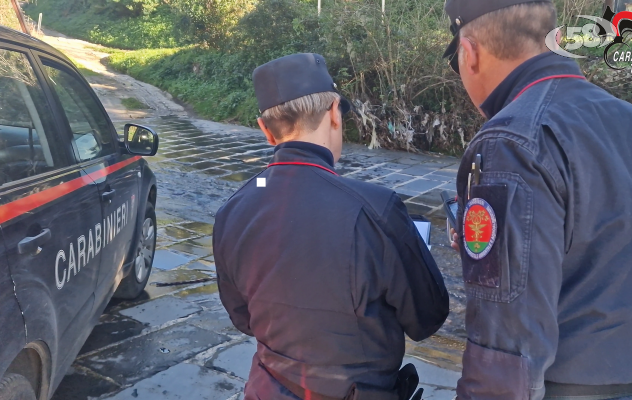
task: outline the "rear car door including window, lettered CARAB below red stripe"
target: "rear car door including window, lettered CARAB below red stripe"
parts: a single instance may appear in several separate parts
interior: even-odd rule
[[[104,234],[50,94],[32,52],[0,43],[0,227],[27,341],[44,341],[55,368],[92,329]]]

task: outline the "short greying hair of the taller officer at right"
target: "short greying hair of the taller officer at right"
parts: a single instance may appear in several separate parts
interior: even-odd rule
[[[499,60],[546,51],[546,35],[555,29],[557,12],[549,2],[522,3],[482,15],[461,29]]]

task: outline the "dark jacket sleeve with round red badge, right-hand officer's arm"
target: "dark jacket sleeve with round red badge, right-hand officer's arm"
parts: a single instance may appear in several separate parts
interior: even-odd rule
[[[481,140],[462,163],[472,165],[474,155],[482,155],[481,179],[469,200],[469,171],[457,179],[468,334],[460,400],[540,400],[555,359],[565,189],[551,158],[528,146],[501,135]],[[492,210],[483,211],[483,220],[477,204]]]

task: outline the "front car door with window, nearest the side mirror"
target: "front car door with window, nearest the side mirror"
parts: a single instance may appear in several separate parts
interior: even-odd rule
[[[49,86],[59,99],[72,137],[74,157],[97,183],[104,241],[96,305],[104,306],[122,278],[137,218],[139,157],[123,154],[118,135],[101,102],[66,62],[40,55]]]

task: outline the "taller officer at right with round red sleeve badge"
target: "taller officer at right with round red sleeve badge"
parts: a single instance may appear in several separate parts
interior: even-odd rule
[[[548,51],[550,2],[446,12],[446,56],[488,119],[457,177],[458,398],[630,398],[632,105]]]

